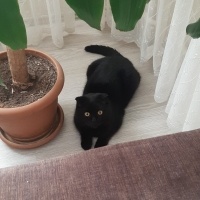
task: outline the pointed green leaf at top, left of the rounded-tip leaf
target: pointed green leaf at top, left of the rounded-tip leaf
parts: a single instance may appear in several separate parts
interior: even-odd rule
[[[104,0],[65,0],[78,17],[100,30]]]

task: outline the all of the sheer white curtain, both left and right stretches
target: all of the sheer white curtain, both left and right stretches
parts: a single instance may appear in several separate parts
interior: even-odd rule
[[[75,29],[75,14],[64,0],[19,0],[28,42],[37,45],[46,36],[61,48],[63,37]],[[141,62],[153,58],[158,76],[155,101],[167,102],[168,125],[175,131],[200,128],[200,39],[186,35],[186,26],[200,17],[199,0],[151,0],[136,28],[115,29],[109,0],[105,0],[102,29],[107,23],[117,40],[135,42]]]

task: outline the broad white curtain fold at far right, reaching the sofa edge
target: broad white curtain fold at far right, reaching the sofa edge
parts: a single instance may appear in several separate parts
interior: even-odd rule
[[[168,125],[176,131],[200,127],[200,40],[192,40],[168,101]]]

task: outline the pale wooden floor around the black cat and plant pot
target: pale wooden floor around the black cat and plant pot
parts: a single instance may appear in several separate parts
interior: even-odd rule
[[[11,149],[0,141],[0,168],[83,151],[79,134],[73,124],[73,114],[74,99],[82,93],[87,66],[100,57],[84,52],[84,47],[90,44],[116,48],[134,63],[142,76],[140,87],[126,110],[124,123],[110,145],[172,133],[166,124],[165,104],[154,101],[156,77],[153,74],[152,60],[140,63],[140,52],[135,44],[117,41],[108,32],[99,32],[78,21],[76,32],[65,37],[62,49],[56,48],[51,38],[34,47],[53,55],[64,69],[65,85],[59,97],[65,115],[62,131],[50,143],[32,150]]]

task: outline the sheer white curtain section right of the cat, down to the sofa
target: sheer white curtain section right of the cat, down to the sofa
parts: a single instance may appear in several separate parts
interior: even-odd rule
[[[151,0],[133,31],[123,33],[110,20],[109,1],[104,22],[118,40],[135,42],[141,62],[153,58],[158,76],[155,101],[166,102],[167,123],[174,131],[200,128],[200,39],[186,27],[200,17],[199,0]],[[111,21],[111,22],[110,22]]]

